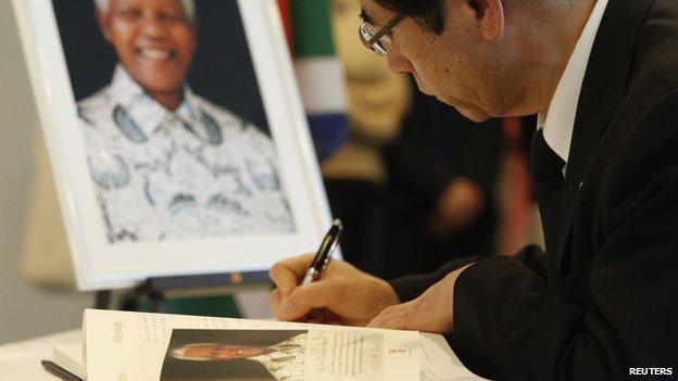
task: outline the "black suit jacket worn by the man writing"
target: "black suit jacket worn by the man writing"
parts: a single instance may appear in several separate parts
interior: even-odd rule
[[[451,341],[464,364],[498,380],[677,377],[678,1],[610,0],[562,204],[540,206],[560,207],[543,220],[548,255],[480,259],[456,281]],[[411,299],[462,264],[392,284]]]

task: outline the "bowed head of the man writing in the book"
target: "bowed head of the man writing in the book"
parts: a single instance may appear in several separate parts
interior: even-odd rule
[[[391,29],[391,69],[412,73],[423,92],[477,122],[540,111],[551,96],[543,88],[557,85],[557,78],[555,85],[536,80],[541,64],[557,72],[574,48],[562,33],[573,29],[569,21],[551,22],[579,2],[586,1],[361,0],[364,17],[377,27],[406,15]]]

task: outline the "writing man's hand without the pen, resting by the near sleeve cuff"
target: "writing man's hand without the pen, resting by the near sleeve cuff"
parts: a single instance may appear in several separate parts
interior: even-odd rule
[[[419,297],[388,307],[368,327],[449,333],[454,325],[453,301],[456,278],[468,266],[450,272]]]

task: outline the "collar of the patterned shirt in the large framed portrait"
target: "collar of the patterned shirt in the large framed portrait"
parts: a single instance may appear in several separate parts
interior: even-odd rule
[[[111,80],[110,94],[113,103],[124,107],[146,136],[153,135],[163,122],[171,118],[178,118],[193,128],[202,125],[199,101],[187,85],[184,85],[184,101],[176,111],[170,111],[149,96],[118,64]]]

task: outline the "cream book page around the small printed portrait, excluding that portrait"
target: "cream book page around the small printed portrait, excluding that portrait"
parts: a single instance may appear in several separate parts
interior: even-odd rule
[[[324,380],[419,380],[419,334],[412,331],[98,309],[85,312],[84,329],[89,380],[160,380],[173,329],[314,331],[310,364],[319,365]],[[356,346],[346,345],[375,334],[380,353],[363,347],[355,357]]]

